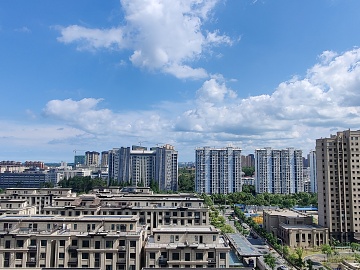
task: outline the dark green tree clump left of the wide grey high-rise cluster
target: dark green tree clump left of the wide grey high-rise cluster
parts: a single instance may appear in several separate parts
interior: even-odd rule
[[[71,188],[77,193],[88,193],[90,190],[99,187],[106,187],[107,182],[101,178],[91,178],[90,176],[74,176],[58,182],[62,188]]]

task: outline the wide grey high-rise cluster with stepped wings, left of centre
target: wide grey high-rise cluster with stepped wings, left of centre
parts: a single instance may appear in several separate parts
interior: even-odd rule
[[[160,190],[178,188],[178,152],[172,145],[133,146],[109,151],[109,181],[149,187],[155,181]]]

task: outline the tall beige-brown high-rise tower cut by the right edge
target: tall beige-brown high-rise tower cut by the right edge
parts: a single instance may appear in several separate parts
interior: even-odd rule
[[[342,242],[360,237],[360,130],[316,140],[319,225]]]

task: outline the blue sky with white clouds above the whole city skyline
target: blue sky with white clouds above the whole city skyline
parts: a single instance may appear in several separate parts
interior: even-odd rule
[[[0,161],[360,129],[358,0],[0,1]]]

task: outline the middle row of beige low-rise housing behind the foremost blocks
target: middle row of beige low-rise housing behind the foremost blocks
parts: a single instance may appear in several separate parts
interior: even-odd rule
[[[207,226],[208,208],[203,199],[191,194],[150,194],[148,189],[124,188],[124,192],[85,194],[78,197],[54,198],[44,207],[46,215],[137,215],[139,224],[149,233],[162,225]]]

